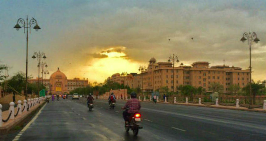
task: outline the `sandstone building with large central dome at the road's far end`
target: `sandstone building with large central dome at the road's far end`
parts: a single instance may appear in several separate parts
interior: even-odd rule
[[[67,79],[67,76],[57,68],[57,71],[52,73],[49,79],[39,79],[40,84],[43,82],[43,85],[46,87],[48,93],[52,94],[64,94],[69,91],[74,90],[78,87],[84,87],[88,85],[88,78],[85,80],[80,80],[79,78]],[[29,83],[38,83],[38,77],[36,79],[29,79]]]

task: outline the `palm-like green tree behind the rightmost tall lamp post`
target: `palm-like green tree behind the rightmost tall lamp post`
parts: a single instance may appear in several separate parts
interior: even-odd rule
[[[245,94],[249,96],[250,93],[250,84],[243,87],[243,91],[245,91]],[[265,91],[265,87],[263,86],[261,81],[254,82],[251,81],[251,94],[253,95],[253,104],[256,104],[256,95],[261,95]],[[252,102],[251,101],[251,102]]]

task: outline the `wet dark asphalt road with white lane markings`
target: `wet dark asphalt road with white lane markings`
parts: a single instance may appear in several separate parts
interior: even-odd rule
[[[137,137],[125,133],[121,107],[110,110],[95,100],[60,99],[43,107],[36,120],[16,136],[21,141],[265,141],[266,113],[141,102],[143,121]],[[13,140],[12,138],[11,140]]]

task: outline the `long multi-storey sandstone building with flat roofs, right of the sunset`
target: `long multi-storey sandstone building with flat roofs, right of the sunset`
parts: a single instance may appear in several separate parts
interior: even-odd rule
[[[209,62],[194,62],[186,66],[182,63],[173,67],[172,62],[156,62],[151,58],[146,70],[141,74],[130,73],[121,76],[116,73],[111,81],[125,84],[130,88],[140,87],[143,91],[151,92],[167,86],[169,91],[177,91],[180,85],[201,86],[203,91],[210,91],[212,82],[223,85],[223,92],[230,92],[230,85],[236,84],[243,88],[249,82],[249,70],[228,65],[209,66]],[[134,75],[133,75],[134,74]]]

